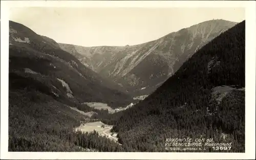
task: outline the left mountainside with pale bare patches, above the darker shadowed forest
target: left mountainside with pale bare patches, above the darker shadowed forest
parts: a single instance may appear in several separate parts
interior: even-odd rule
[[[118,86],[115,83],[102,78],[73,55],[61,50],[54,40],[12,21],[10,75],[48,81],[45,85],[50,93],[69,97],[80,104],[104,102],[120,107],[133,101],[132,97],[116,90]]]

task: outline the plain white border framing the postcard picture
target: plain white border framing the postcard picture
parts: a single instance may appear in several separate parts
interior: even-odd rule
[[[244,7],[246,9],[245,153],[8,152],[8,58],[10,7]],[[255,159],[254,1],[1,1],[1,159]]]

